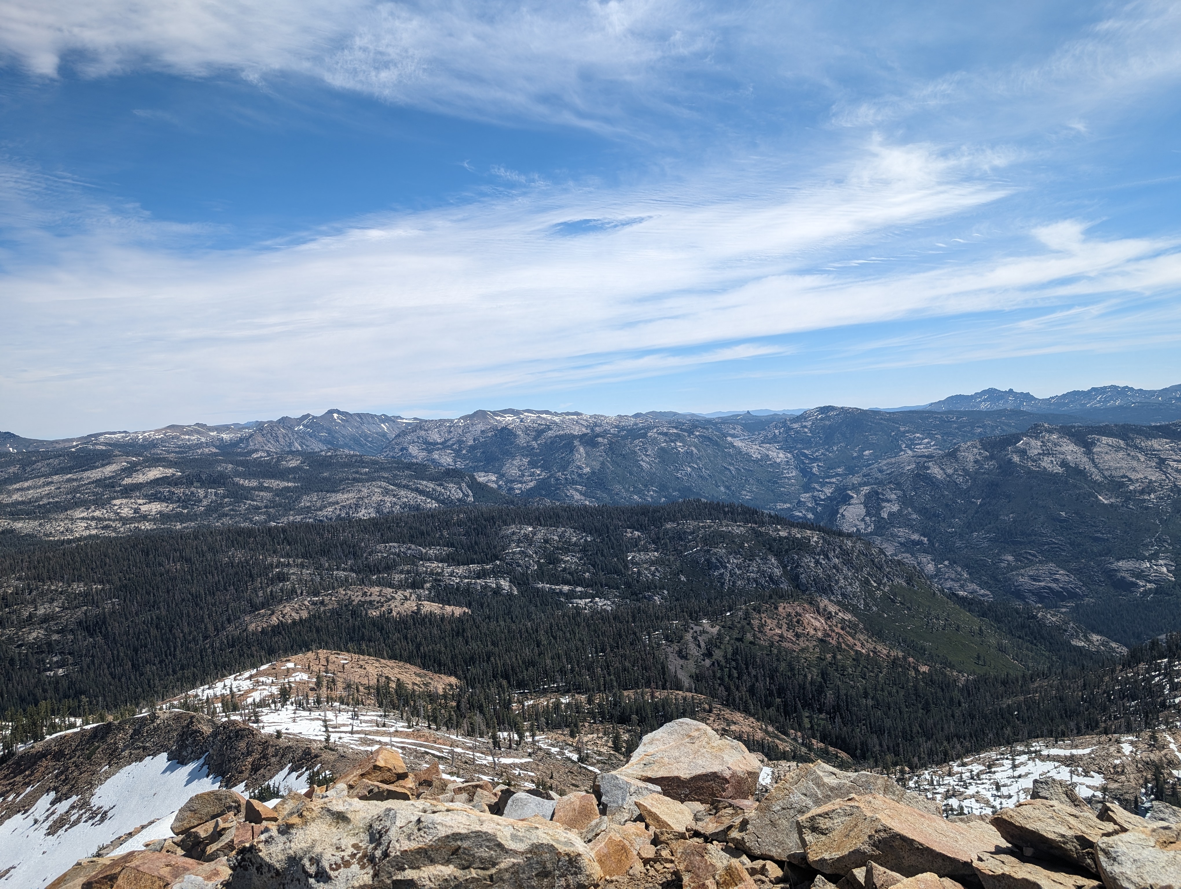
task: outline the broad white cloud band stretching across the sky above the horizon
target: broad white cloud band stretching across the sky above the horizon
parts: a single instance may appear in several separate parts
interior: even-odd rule
[[[415,408],[782,354],[772,338],[808,331],[1181,285],[1181,244],[1088,238],[1075,221],[1029,233],[1024,256],[977,244],[928,270],[817,270],[1006,194],[963,158],[914,148],[876,143],[840,178],[735,191],[542,188],[204,255],[109,229],[57,238],[52,260],[0,281],[5,399],[17,414],[41,399],[80,413],[152,399],[239,414]],[[639,221],[559,234],[572,218]]]

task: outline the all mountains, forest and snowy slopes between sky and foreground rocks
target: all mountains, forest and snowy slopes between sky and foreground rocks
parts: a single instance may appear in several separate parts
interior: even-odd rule
[[[985,808],[1094,736],[1104,793],[1176,797],[1181,423],[1014,394],[2,433],[0,880],[152,842],[187,789],[318,784],[397,720],[452,767],[531,734],[501,765],[582,786],[700,715]]]

